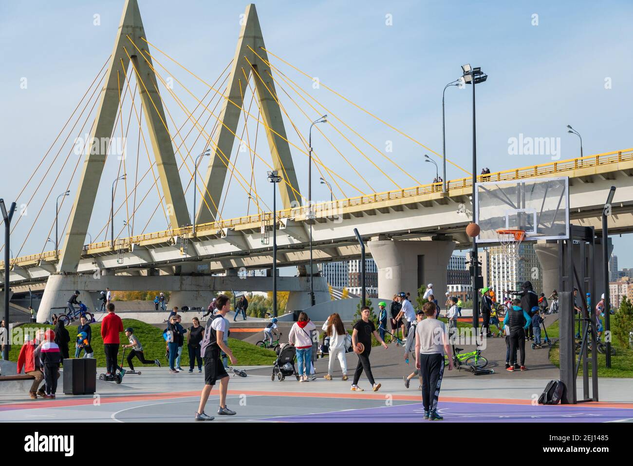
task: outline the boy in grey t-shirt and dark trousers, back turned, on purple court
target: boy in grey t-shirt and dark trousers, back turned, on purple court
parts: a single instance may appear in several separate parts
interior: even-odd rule
[[[437,399],[444,375],[444,352],[448,354],[448,370],[453,370],[453,354],[448,344],[446,325],[435,317],[435,304],[427,302],[422,310],[426,318],[415,329],[415,366],[420,370],[422,379],[424,418],[442,420],[437,413]]]

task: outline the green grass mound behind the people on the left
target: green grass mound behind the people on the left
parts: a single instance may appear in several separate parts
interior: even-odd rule
[[[92,342],[91,346],[94,350],[94,356],[97,359],[97,366],[104,367],[106,365],[106,356],[103,351],[103,339],[101,339],[101,323],[93,323],[92,327]],[[141,342],[146,359],[158,359],[162,366],[168,366],[168,361],[165,358],[165,339],[163,339],[163,330],[153,327],[148,323],[141,322],[134,319],[123,319],[123,328],[134,328],[134,335]],[[21,325],[18,328],[53,328],[52,325],[33,324],[28,323]],[[70,333],[70,344],[68,345],[70,357],[75,356],[75,335],[73,332],[77,332],[76,326],[67,327]],[[24,332],[24,330],[22,330]],[[119,335],[121,344],[128,344],[128,339],[125,333]],[[189,366],[189,353],[187,352],[187,342],[182,349],[182,356],[180,358],[180,366]],[[229,338],[229,347],[235,358],[237,358],[238,365],[241,366],[258,366],[258,365],[273,365],[275,362],[275,352],[270,349],[263,349],[253,344],[244,342],[242,340],[236,340]],[[126,350],[126,358],[129,350]],[[9,352],[9,359],[11,361],[18,360],[18,354],[20,353],[20,346],[11,346]],[[119,362],[123,354],[123,349],[119,350]],[[82,353],[83,356],[83,353]],[[134,358],[134,367],[142,367],[143,365],[137,358]],[[124,367],[127,367],[127,361],[124,361]]]

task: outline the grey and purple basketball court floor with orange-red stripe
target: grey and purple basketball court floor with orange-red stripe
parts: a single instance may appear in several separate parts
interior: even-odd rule
[[[299,384],[270,380],[270,368],[248,368],[232,377],[227,405],[237,415],[213,422],[423,422],[417,380],[405,389],[402,379],[382,379],[379,392],[351,392],[340,379]],[[579,405],[532,405],[545,380],[444,379],[439,411],[444,422],[633,422],[627,380],[605,379],[603,399]],[[27,394],[0,396],[0,422],[194,422],[203,375],[170,375],[144,368],[123,384],[98,382],[96,396],[30,400]],[[368,389],[364,377],[361,387]],[[494,388],[493,388],[494,387]],[[601,387],[602,388],[602,387]],[[510,398],[512,397],[512,398]],[[217,388],[206,413],[215,415]],[[623,401],[624,400],[624,401]]]

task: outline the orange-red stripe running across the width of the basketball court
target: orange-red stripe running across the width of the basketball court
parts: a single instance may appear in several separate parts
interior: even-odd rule
[[[216,391],[211,392],[214,394]],[[126,403],[128,401],[152,401],[170,398],[185,398],[187,396],[199,396],[200,391],[187,392],[165,392],[155,394],[139,394],[127,396],[111,396],[100,397],[99,403]],[[277,392],[277,391],[256,391],[256,390],[229,390],[230,395],[252,395],[252,396],[294,396],[301,398],[346,398],[346,399],[385,399],[384,392],[380,393],[321,393],[321,392]],[[397,401],[418,401],[421,402],[420,395],[391,395],[392,399]],[[528,399],[499,399],[499,398],[461,398],[452,396],[441,396],[439,401],[452,403],[489,403],[492,405],[531,405],[532,401]],[[59,399],[54,401],[31,401],[28,403],[5,403],[0,405],[0,411],[9,410],[29,410],[39,408],[62,408],[65,406],[85,406],[92,405],[94,398],[82,399]],[[633,409],[633,403],[613,403],[608,401],[598,401],[591,403],[580,403],[579,405],[558,405],[577,408],[577,406],[588,406],[589,408],[624,408]]]

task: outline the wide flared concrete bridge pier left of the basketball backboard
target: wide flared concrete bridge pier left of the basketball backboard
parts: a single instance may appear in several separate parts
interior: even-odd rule
[[[379,296],[410,292],[415,299],[421,285],[433,283],[435,298],[444,306],[446,269],[455,248],[451,236],[437,235],[431,241],[376,238],[368,246],[378,266]]]

